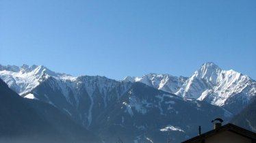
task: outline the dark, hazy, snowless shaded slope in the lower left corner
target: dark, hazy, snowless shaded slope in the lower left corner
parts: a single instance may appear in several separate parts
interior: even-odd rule
[[[0,142],[100,142],[60,110],[25,99],[0,80]]]

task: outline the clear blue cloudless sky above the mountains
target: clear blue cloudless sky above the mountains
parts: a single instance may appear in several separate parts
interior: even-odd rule
[[[256,79],[255,0],[0,0],[1,65],[120,80],[207,61]]]

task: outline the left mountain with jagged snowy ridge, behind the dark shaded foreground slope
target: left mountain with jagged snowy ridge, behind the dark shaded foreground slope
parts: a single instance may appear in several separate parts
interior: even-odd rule
[[[55,73],[42,65],[0,65],[0,69],[0,78],[16,93],[68,112],[85,127],[90,126],[97,112],[118,99],[130,84],[103,76],[74,77]]]

